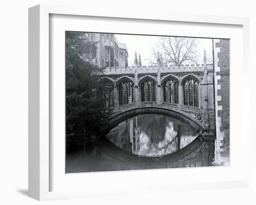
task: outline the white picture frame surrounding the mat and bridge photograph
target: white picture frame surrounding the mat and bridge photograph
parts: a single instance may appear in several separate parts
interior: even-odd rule
[[[97,193],[86,192],[57,192],[50,191],[51,182],[51,141],[50,141],[50,38],[49,15],[67,14],[93,17],[111,17],[128,19],[147,19],[159,21],[176,21],[206,24],[239,25],[243,26],[243,81],[249,78],[249,19],[241,17],[223,17],[195,14],[177,14],[162,12],[131,12],[90,9],[84,11],[79,7],[38,5],[29,8],[29,197],[38,200],[71,199],[96,197]],[[249,116],[249,89],[243,88],[243,128],[245,119]],[[243,129],[243,138],[249,141],[249,130]],[[249,150],[244,150],[249,156]],[[192,185],[179,184],[175,187],[159,185],[158,192],[172,190],[201,190],[249,186],[249,157],[245,159],[244,179],[235,181],[220,181],[219,183],[197,183]],[[148,187],[141,193],[150,192]],[[124,190],[127,192],[127,190]],[[140,193],[138,190],[130,191]],[[119,193],[119,192],[118,192]],[[122,194],[122,192],[120,192]],[[107,195],[107,193],[106,193]],[[111,194],[112,195],[112,194]],[[113,193],[113,195],[116,195]]]

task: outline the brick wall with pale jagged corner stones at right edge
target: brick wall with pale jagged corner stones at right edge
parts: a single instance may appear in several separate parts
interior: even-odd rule
[[[229,165],[229,39],[214,39],[217,165]]]

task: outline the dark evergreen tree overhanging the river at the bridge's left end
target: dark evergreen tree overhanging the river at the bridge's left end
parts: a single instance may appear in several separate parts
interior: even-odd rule
[[[107,112],[103,108],[99,74],[102,68],[82,58],[97,50],[98,42],[82,32],[66,32],[66,142],[78,145],[100,135]]]

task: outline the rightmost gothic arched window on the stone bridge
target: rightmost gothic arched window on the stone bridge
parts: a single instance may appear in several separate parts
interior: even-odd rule
[[[187,78],[183,83],[183,104],[198,107],[198,82],[193,77]]]

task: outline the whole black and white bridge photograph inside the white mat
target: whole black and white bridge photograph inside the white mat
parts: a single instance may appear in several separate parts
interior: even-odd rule
[[[230,39],[65,35],[66,173],[230,165]]]

